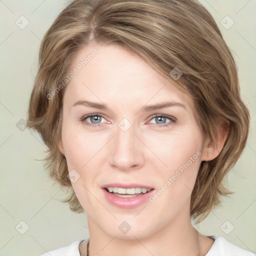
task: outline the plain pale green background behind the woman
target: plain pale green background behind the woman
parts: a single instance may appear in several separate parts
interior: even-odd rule
[[[65,193],[51,186],[43,162],[45,147],[38,134],[20,131],[16,123],[26,118],[29,94],[37,70],[37,53],[44,33],[66,0],[0,0],[0,255],[38,255],[88,237],[85,214],[69,210],[58,199]],[[227,177],[235,191],[219,208],[196,225],[204,234],[216,234],[256,252],[256,1],[201,0],[214,16],[239,69],[242,99],[251,113],[246,148]],[[20,29],[15,21],[25,16]],[[225,29],[220,21],[234,21]],[[20,234],[20,221],[29,229]],[[234,229],[225,234],[221,226]],[[24,230],[24,229],[22,229]],[[225,230],[225,229],[223,229]]]

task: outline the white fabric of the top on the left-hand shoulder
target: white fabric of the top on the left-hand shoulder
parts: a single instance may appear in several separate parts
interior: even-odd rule
[[[79,244],[82,241],[83,240],[74,241],[67,246],[47,251],[43,254],[40,254],[39,256],[80,256]]]

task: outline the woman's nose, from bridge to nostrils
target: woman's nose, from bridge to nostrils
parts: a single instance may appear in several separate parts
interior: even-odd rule
[[[131,126],[124,131],[117,126],[115,136],[111,139],[109,148],[109,164],[112,168],[118,170],[139,169],[144,164],[145,145],[141,138]]]

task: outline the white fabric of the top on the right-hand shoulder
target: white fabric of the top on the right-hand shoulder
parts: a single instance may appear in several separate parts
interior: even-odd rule
[[[242,249],[218,235],[208,236],[214,242],[205,256],[255,256],[251,251]]]

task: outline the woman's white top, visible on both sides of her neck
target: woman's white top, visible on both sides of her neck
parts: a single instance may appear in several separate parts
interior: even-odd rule
[[[255,256],[251,251],[244,250],[233,243],[227,241],[224,237],[218,235],[207,235],[214,239],[213,244],[205,256]],[[88,239],[87,239],[88,240]],[[39,256],[80,256],[79,244],[83,240],[77,240],[68,246],[50,250]]]

